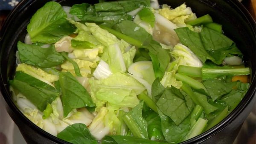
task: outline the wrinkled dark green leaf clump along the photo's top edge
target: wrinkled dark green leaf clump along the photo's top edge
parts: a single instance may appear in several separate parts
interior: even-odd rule
[[[70,14],[85,22],[97,23],[111,28],[122,20],[132,20],[132,17],[126,13],[139,7],[148,6],[148,3],[150,3],[149,0],[120,0],[94,5],[81,3],[73,5]]]

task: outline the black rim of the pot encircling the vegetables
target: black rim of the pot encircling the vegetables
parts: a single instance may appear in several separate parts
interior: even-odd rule
[[[46,0],[46,1],[50,1],[50,0]],[[55,0],[55,1],[61,2],[64,0]],[[199,1],[202,1],[202,0],[199,0]],[[250,25],[250,29],[253,30],[253,34],[255,36],[256,35],[256,32],[255,32],[256,22],[255,22],[255,20],[253,20],[253,17],[250,15],[250,13],[247,11],[247,9],[238,0],[226,0],[225,2],[231,4],[232,6],[235,6],[235,7],[233,7],[233,9],[236,9],[236,11],[238,11],[239,14],[241,14],[241,16],[243,16],[246,19],[247,23]],[[26,10],[26,7],[29,5],[32,5],[32,3],[34,3],[34,0],[22,0],[12,10],[12,12],[10,12],[10,14],[6,18],[5,22],[3,23],[3,27],[1,29],[1,33],[0,33],[1,47],[2,47],[2,41],[4,39],[5,33],[7,32],[7,29],[9,28],[9,23],[11,23],[11,21],[15,19],[15,16],[17,14],[19,14],[20,11]],[[1,49],[1,55],[2,55],[2,53],[3,53],[3,49]],[[1,68],[2,68],[2,64],[3,63],[0,61]],[[16,105],[12,101],[12,97],[9,94],[9,90],[6,89],[6,82],[3,81],[2,71],[0,72],[0,77],[1,77],[1,80],[0,80],[1,94],[6,101],[6,107],[7,107],[7,105],[8,105],[8,107],[10,107],[10,109],[7,109],[9,114],[10,114],[9,110],[11,110],[11,113],[15,113],[16,116],[19,117],[20,120],[23,121],[32,130],[35,130],[36,132],[38,132],[38,134],[44,136],[45,138],[48,138],[51,141],[54,141],[56,143],[60,143],[60,142],[61,143],[69,143],[67,141],[63,141],[60,138],[57,138],[57,137],[49,134],[48,132],[42,130],[40,127],[36,126],[32,121],[30,121],[28,118],[26,118],[26,116],[23,115],[22,112],[20,112],[20,110],[16,107]],[[202,133],[201,135],[198,135],[198,136],[191,138],[187,141],[183,141],[181,144],[201,143],[201,142],[206,141],[207,139],[211,138],[213,135],[216,135],[218,132],[220,132],[225,127],[227,127],[229,124],[231,124],[236,119],[236,117],[241,112],[244,111],[245,107],[247,107],[247,105],[250,103],[250,101],[252,101],[253,97],[255,96],[255,92],[256,92],[256,73],[252,74],[251,85],[250,85],[250,88],[248,89],[246,95],[244,96],[242,101],[239,103],[239,105],[226,118],[224,118],[219,124],[215,125],[214,127],[207,130],[206,132]],[[12,115],[11,115],[11,117],[13,118]]]

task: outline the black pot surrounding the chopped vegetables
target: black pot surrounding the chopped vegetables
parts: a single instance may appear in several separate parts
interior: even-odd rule
[[[26,25],[30,18],[50,0],[23,0],[9,14],[1,30],[1,93],[6,101],[6,109],[20,129],[27,143],[53,144],[67,143],[45,132],[29,121],[12,101],[8,80],[13,78],[15,72],[15,52],[17,41],[23,41],[26,35]],[[62,6],[72,6],[75,3],[92,3],[89,0],[55,0]],[[97,1],[94,1],[95,3]],[[187,6],[197,16],[210,14],[213,20],[221,23],[225,35],[236,42],[244,54],[246,66],[250,67],[250,89],[240,104],[221,123],[212,129],[198,135],[186,143],[219,143],[232,144],[241,124],[249,115],[255,103],[255,67],[256,67],[256,23],[247,10],[237,0],[159,0],[160,4],[169,4],[173,8],[186,2]]]

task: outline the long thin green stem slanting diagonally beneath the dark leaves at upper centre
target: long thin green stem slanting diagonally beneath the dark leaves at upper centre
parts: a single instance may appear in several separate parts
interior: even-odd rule
[[[125,40],[127,43],[130,43],[130,44],[133,45],[133,46],[140,47],[140,46],[143,45],[143,43],[140,42],[139,40],[136,40],[136,39],[134,39],[134,38],[132,38],[132,37],[129,37],[129,36],[127,36],[127,35],[124,35],[124,34],[122,34],[122,33],[120,33],[120,32],[117,32],[116,30],[113,30],[113,29],[111,29],[111,28],[108,28],[108,27],[102,26],[102,25],[99,25],[99,26],[100,26],[102,29],[105,29],[105,30],[107,30],[108,32],[110,32],[111,34],[115,35],[117,38],[123,39],[123,40]]]

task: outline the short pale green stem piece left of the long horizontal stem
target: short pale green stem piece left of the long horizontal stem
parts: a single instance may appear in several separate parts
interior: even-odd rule
[[[180,65],[178,67],[178,72],[184,75],[188,75],[196,78],[202,78],[202,68],[200,67]]]

